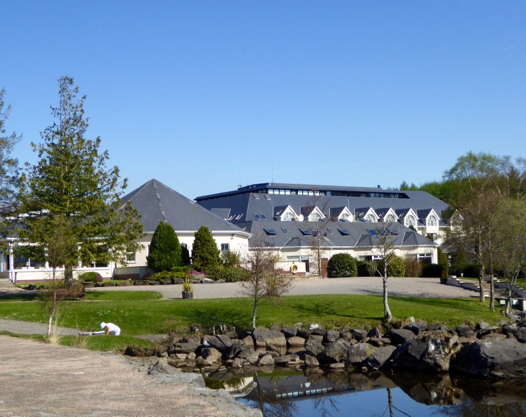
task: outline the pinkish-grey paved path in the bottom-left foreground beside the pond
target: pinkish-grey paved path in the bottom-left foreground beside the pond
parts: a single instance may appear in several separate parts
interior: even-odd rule
[[[205,389],[200,375],[152,377],[119,355],[6,335],[0,346],[2,416],[261,415],[223,390]]]

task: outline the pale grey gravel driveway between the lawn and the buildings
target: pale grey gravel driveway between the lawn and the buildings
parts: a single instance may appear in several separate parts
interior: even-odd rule
[[[180,285],[88,288],[89,291],[157,291],[163,299],[182,298]],[[194,284],[194,298],[244,297],[240,283]],[[391,297],[470,298],[478,297],[475,291],[443,285],[439,278],[389,278]],[[316,294],[382,295],[380,277],[299,279],[292,283],[289,296]]]

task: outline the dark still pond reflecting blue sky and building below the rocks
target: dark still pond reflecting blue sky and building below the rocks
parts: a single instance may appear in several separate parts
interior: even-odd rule
[[[204,374],[265,417],[526,416],[526,380],[485,381],[449,374],[260,368]]]

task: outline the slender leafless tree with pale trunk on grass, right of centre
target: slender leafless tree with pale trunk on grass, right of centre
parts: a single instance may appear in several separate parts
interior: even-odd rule
[[[390,322],[392,314],[388,303],[387,280],[389,279],[389,266],[397,259],[396,251],[399,248],[397,223],[392,221],[380,223],[377,228],[372,230],[374,235],[371,236],[372,243],[369,249],[380,258],[376,264],[376,270],[383,282],[383,319]]]

